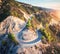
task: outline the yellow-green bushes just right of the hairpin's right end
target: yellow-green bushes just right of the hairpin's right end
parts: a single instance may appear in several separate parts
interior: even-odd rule
[[[44,28],[40,28],[42,33],[42,41],[46,43],[57,42],[57,38],[53,35],[52,31],[49,29],[48,23],[45,24]]]

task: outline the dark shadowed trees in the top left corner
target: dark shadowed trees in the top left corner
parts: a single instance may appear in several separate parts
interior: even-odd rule
[[[3,21],[10,14],[10,6],[8,0],[2,0],[0,8],[0,22]]]

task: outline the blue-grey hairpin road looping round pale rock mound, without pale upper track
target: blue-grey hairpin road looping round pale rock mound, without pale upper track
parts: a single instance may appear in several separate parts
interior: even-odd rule
[[[31,16],[28,18],[28,20],[29,20],[29,19],[31,19]],[[27,20],[27,22],[28,22],[28,20]],[[22,40],[19,38],[20,35],[21,35],[21,32],[26,29],[26,24],[27,24],[27,22],[25,23],[24,27],[20,30],[20,32],[18,32],[18,33],[16,34],[16,35],[17,35],[16,38],[17,38],[17,40],[18,40],[18,42],[19,42],[19,44],[20,44],[21,46],[32,46],[32,45],[35,45],[35,44],[41,42],[41,36],[42,36],[42,34],[41,34],[41,32],[40,32],[39,30],[36,31],[38,38],[36,38],[36,39],[33,40],[33,41],[24,42],[24,41],[22,41]]]

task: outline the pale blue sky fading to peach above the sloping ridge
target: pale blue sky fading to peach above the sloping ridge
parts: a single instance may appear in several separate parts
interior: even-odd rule
[[[34,6],[60,10],[60,0],[17,0]]]

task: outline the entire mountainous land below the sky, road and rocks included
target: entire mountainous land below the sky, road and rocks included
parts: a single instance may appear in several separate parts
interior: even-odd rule
[[[15,0],[0,0],[0,54],[52,54],[52,51],[60,53],[59,13],[57,10]],[[34,35],[38,37],[35,40],[32,39]],[[28,42],[23,38],[32,41]],[[37,41],[41,42],[35,44]]]

